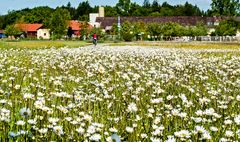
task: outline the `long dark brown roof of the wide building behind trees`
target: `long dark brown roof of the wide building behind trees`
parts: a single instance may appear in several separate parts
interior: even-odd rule
[[[145,23],[167,23],[176,22],[182,25],[196,25],[199,22],[207,24],[207,22],[216,22],[226,19],[227,17],[203,17],[203,16],[140,16],[140,17],[121,17],[121,23],[124,21],[129,22],[145,22]],[[96,22],[101,24],[101,27],[105,28],[107,26],[112,26],[112,24],[117,23],[117,17],[97,17]]]

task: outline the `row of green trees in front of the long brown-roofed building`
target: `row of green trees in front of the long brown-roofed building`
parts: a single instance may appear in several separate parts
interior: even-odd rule
[[[215,31],[209,33],[208,27],[203,23],[198,23],[196,26],[183,26],[178,23],[130,23],[125,21],[121,25],[121,38],[125,41],[132,40],[171,40],[172,37],[192,37],[207,36],[235,36],[237,30],[240,29],[240,22],[234,19],[221,21],[216,26]],[[112,35],[118,35],[117,24],[113,25],[111,30]]]

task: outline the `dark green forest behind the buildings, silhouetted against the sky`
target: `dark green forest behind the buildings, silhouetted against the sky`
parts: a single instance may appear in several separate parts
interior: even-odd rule
[[[88,21],[89,13],[98,12],[98,6],[91,6],[88,1],[80,2],[77,7],[73,7],[70,2],[57,8],[39,6],[35,8],[25,8],[22,10],[9,11],[6,15],[0,15],[0,29],[5,29],[7,25],[14,23],[43,23],[50,27],[53,13],[57,10],[65,10],[69,14],[68,19]],[[162,4],[158,0],[144,0],[139,5],[131,0],[119,0],[115,6],[105,6],[105,16],[239,16],[239,0],[212,0],[211,9],[200,10],[197,5],[188,2],[181,5],[170,5],[167,2]]]

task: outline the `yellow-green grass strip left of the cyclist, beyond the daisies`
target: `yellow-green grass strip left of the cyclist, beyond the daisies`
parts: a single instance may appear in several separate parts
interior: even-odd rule
[[[0,48],[50,48],[80,47],[89,43],[85,41],[0,41]]]

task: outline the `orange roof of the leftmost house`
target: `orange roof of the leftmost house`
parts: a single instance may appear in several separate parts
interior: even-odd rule
[[[16,24],[15,27],[25,32],[37,32],[43,24]]]

